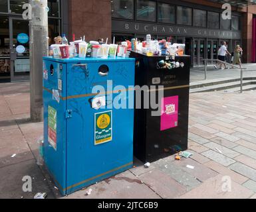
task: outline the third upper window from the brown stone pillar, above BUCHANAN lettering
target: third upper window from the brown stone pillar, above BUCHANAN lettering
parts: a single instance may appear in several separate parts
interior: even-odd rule
[[[158,3],[158,22],[175,24],[175,6]]]

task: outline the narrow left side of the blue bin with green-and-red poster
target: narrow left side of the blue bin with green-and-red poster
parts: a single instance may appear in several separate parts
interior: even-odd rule
[[[44,60],[43,79],[43,107],[44,107],[44,158],[45,165],[49,170],[53,180],[63,195],[66,188],[66,101],[61,97],[66,95],[66,64],[59,64]],[[51,73],[52,71],[52,73]],[[59,89],[59,80],[63,81],[63,88]],[[53,97],[53,90],[58,91],[60,101]],[[55,111],[56,117],[49,115],[49,109]],[[54,114],[52,114],[54,115]],[[56,121],[55,129],[49,125],[49,120]],[[51,131],[51,132],[49,132]],[[55,137],[56,136],[56,140]],[[50,141],[51,140],[51,141]],[[55,144],[56,141],[56,144]],[[56,146],[55,146],[56,145]]]

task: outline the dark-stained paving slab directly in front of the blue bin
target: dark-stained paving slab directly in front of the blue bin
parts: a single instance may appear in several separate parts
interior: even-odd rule
[[[92,189],[90,195],[86,192]],[[72,193],[63,199],[160,199],[148,185],[143,184],[130,171],[118,174],[114,178],[91,185],[84,190]]]

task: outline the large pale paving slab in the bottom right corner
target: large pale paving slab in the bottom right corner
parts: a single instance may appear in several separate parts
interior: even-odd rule
[[[231,191],[228,191],[225,189],[226,179],[223,177],[218,175],[210,178],[179,199],[247,199],[253,195],[253,191],[233,181],[231,181]]]

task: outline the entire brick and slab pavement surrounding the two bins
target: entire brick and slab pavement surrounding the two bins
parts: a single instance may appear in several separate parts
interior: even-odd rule
[[[64,198],[256,198],[256,91],[190,96],[191,158],[164,158],[91,185]],[[0,198],[59,198],[51,178],[36,164],[43,123],[29,122],[29,84],[0,84]],[[13,154],[17,154],[11,158]],[[187,168],[194,166],[194,169]],[[21,190],[33,177],[33,192]],[[225,187],[229,185],[231,187]],[[229,188],[231,191],[229,191]],[[226,189],[226,190],[225,190]]]

